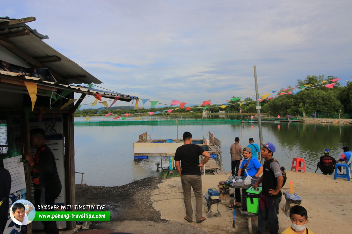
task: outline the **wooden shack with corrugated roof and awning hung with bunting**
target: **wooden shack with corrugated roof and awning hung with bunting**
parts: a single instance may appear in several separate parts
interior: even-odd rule
[[[35,152],[30,148],[30,128],[44,128],[62,183],[56,202],[75,205],[74,112],[88,95],[119,101],[137,97],[95,89],[90,84],[101,81],[46,44],[48,36],[26,24],[34,20],[0,18],[0,167],[4,159]],[[81,94],[79,99],[75,93]],[[11,193],[10,205],[19,199],[34,203],[30,167],[23,166],[25,188]],[[40,229],[32,223],[28,233]],[[62,221],[58,227],[75,228],[76,223]]]

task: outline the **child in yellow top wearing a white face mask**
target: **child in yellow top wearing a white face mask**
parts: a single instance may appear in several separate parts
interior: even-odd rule
[[[281,234],[313,234],[311,230],[306,228],[308,223],[308,213],[303,206],[293,206],[290,209],[291,226],[284,230]]]

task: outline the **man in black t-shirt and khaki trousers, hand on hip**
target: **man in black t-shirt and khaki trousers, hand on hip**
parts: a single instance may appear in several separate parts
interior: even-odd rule
[[[201,169],[204,164],[208,162],[210,154],[199,145],[192,144],[191,133],[184,132],[182,138],[184,145],[176,149],[174,160],[177,172],[181,176],[183,201],[184,206],[186,207],[186,216],[184,216],[184,220],[187,222],[193,221],[193,209],[191,203],[191,188],[193,188],[193,193],[196,198],[196,220],[197,223],[201,223],[205,220],[205,217],[202,217],[203,192]],[[205,157],[200,164],[199,155]]]

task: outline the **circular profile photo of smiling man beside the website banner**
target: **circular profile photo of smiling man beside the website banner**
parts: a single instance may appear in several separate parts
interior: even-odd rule
[[[10,216],[14,223],[18,225],[27,225],[31,223],[36,216],[36,209],[32,202],[27,200],[15,201],[10,207]]]

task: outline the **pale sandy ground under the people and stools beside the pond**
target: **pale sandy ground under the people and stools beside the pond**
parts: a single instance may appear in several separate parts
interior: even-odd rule
[[[205,175],[202,177],[203,181],[203,194],[206,193],[208,188],[216,186],[219,181],[226,180],[227,175]],[[287,172],[287,183],[284,190],[288,190],[289,181],[293,181],[295,185],[295,192],[302,196],[302,206],[308,210],[309,223],[307,227],[314,233],[332,233],[339,231],[340,233],[348,233],[352,229],[349,215],[352,210],[351,203],[351,182],[346,179],[338,178],[334,180],[333,176],[321,175],[314,173],[302,172]],[[164,180],[158,185],[151,193],[151,202],[153,207],[161,214],[162,219],[170,221],[183,220],[185,209],[182,199],[182,187],[180,178],[172,178]],[[195,203],[194,196],[192,200]],[[206,203],[204,199],[204,204]],[[285,203],[283,197],[279,205],[279,231],[290,226],[290,220],[282,211]],[[235,214],[235,229],[232,228],[233,211],[226,205],[219,204],[218,207],[221,212],[221,217],[207,219],[201,225],[203,228],[211,229],[227,229],[230,233],[246,233],[247,220],[245,217],[240,216],[238,209]],[[206,216],[203,212],[203,216]],[[195,215],[194,215],[195,220]],[[343,225],[341,225],[343,223]],[[187,223],[185,225],[199,226],[197,223]],[[256,233],[258,221],[252,221],[253,231]]]

